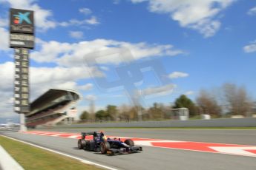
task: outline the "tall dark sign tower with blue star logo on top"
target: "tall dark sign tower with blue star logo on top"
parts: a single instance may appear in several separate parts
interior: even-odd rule
[[[24,114],[30,112],[29,50],[34,48],[32,10],[10,9],[10,48],[14,48],[14,112],[19,113],[21,131],[26,131]]]

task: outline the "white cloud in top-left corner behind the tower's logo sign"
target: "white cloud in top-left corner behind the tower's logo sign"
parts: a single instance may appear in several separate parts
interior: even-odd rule
[[[42,7],[36,4],[36,0],[1,0],[0,3],[10,4],[10,7],[13,8],[35,11],[35,23],[39,30],[45,31],[56,27],[56,22],[50,20],[52,12],[50,10],[42,9]]]

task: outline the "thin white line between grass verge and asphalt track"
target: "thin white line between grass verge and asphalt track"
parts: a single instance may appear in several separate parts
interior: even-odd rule
[[[1,135],[1,136],[4,136],[4,135]],[[99,164],[99,163],[94,163],[94,162],[92,162],[92,161],[90,161],[90,160],[84,160],[84,159],[81,159],[81,158],[79,158],[79,157],[74,157],[74,156],[72,156],[72,155],[70,155],[70,154],[65,154],[65,153],[62,153],[62,152],[55,151],[55,150],[53,150],[53,149],[47,149],[47,148],[45,148],[45,147],[35,145],[35,144],[33,144],[33,143],[28,143],[28,142],[25,142],[25,141],[23,141],[23,140],[18,140],[18,139],[15,139],[15,138],[13,138],[13,137],[8,137],[8,136],[4,136],[4,137],[7,137],[7,138],[10,138],[10,139],[12,139],[12,140],[16,140],[16,141],[19,141],[19,142],[22,142],[22,143],[26,143],[26,144],[28,144],[28,145],[30,145],[30,146],[35,146],[35,147],[40,148],[40,149],[45,149],[45,150],[47,150],[47,151],[54,152],[54,153],[56,153],[56,154],[62,154],[62,155],[65,156],[65,157],[71,157],[71,158],[73,158],[73,159],[75,159],[75,160],[81,161],[82,163],[90,164],[90,165],[93,165],[93,166],[99,166],[99,167],[102,167],[102,168],[104,168],[104,169],[118,170],[118,169],[111,168],[111,167],[109,167],[109,166],[103,166],[102,164]]]

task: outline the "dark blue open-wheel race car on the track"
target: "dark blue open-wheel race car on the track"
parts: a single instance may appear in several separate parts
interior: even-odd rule
[[[134,146],[134,141],[126,139],[124,142],[117,138],[106,137],[103,132],[82,132],[78,140],[78,148],[102,154],[125,154],[142,151],[141,146]],[[92,140],[85,139],[86,136],[93,136]]]

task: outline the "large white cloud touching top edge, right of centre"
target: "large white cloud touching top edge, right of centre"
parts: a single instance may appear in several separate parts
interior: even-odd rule
[[[205,38],[220,29],[218,16],[235,0],[131,0],[133,3],[148,1],[152,13],[167,13],[181,27],[199,31]]]

